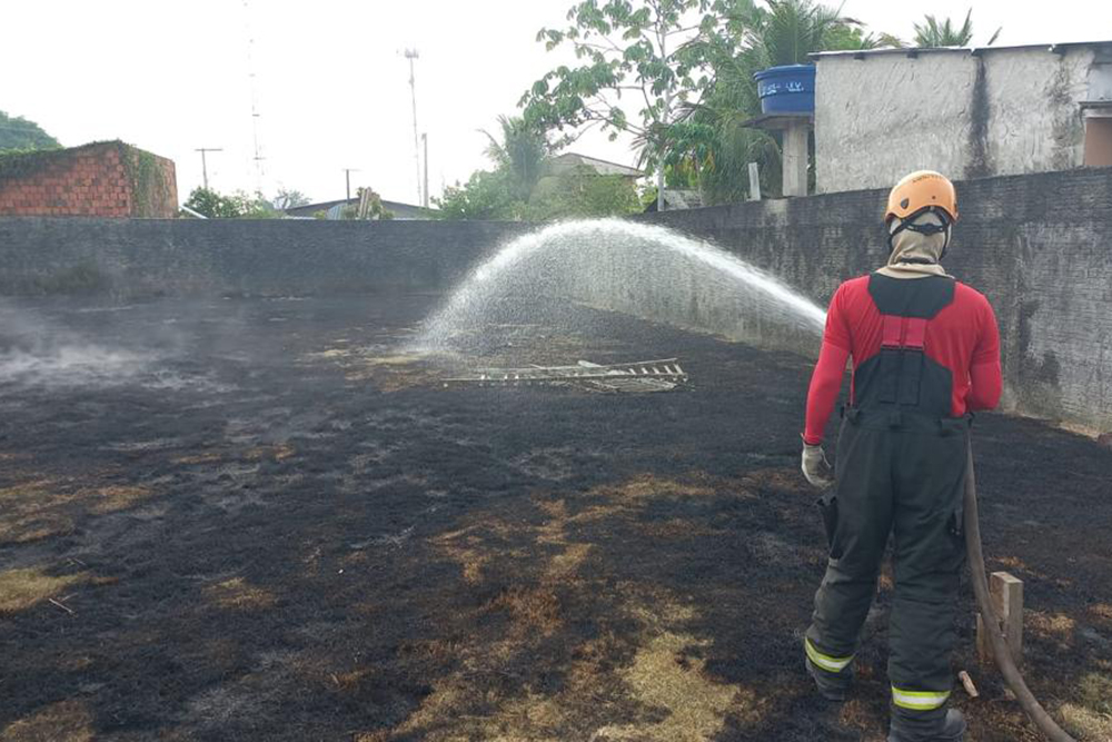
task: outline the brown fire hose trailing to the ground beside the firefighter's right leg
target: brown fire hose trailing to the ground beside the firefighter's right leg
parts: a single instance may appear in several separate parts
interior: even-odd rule
[[[977,520],[976,506],[976,477],[973,474],[973,446],[969,446],[969,462],[965,473],[965,550],[969,553],[970,570],[973,573],[973,594],[976,596],[977,607],[984,617],[982,624],[989,634],[989,644],[992,647],[992,655],[996,660],[996,666],[1004,676],[1004,682],[1012,689],[1020,706],[1027,714],[1035,726],[1046,735],[1052,742],[1076,742],[1072,736],[1058,725],[1042,704],[1035,699],[1027,687],[1023,675],[1011,651],[1004,640],[1004,634],[1000,629],[1000,621],[989,597],[989,581],[985,577],[984,552],[981,548],[981,524]]]

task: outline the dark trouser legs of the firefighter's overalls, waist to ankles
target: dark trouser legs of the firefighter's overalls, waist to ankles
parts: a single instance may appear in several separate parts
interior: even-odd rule
[[[806,636],[826,656],[856,653],[894,532],[888,680],[907,701],[895,705],[901,715],[943,713],[952,687],[966,431],[866,409],[847,416],[838,438],[837,523]]]

